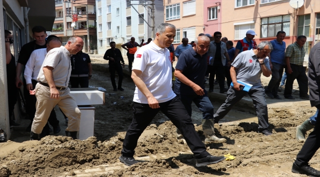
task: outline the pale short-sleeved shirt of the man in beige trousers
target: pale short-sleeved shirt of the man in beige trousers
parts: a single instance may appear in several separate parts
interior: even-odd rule
[[[53,78],[56,87],[68,87],[71,74],[70,53],[64,46],[51,49],[44,59],[37,80],[48,83],[43,74],[43,67],[53,67]]]

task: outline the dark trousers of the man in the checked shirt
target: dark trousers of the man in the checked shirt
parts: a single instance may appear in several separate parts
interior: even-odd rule
[[[290,64],[292,73],[289,74],[286,67],[287,81],[284,96],[288,97],[292,94],[293,81],[296,79],[299,85],[299,95],[304,96],[308,94],[308,77],[306,69],[303,66]]]

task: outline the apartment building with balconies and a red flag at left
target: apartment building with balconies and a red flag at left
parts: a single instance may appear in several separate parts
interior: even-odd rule
[[[78,35],[84,41],[85,52],[88,46],[96,49],[96,0],[55,0],[55,3],[56,19],[50,34],[61,37],[63,45],[70,36]]]

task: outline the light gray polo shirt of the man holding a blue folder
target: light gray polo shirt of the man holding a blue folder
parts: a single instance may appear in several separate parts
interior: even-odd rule
[[[270,69],[269,58],[266,57],[264,60],[265,66]],[[231,63],[231,65],[236,70],[237,80],[247,82],[253,88],[261,87],[261,66],[258,58],[256,57],[254,51],[251,49],[249,51],[241,52]]]

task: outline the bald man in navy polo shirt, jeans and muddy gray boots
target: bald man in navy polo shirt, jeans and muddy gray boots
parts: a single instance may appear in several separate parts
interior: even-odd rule
[[[202,112],[202,129],[205,144],[224,143],[226,139],[215,136],[213,106],[204,87],[204,76],[207,68],[207,51],[210,39],[206,35],[194,40],[195,46],[180,55],[176,65],[174,93],[192,115],[192,102]],[[180,133],[180,131],[177,131]]]

